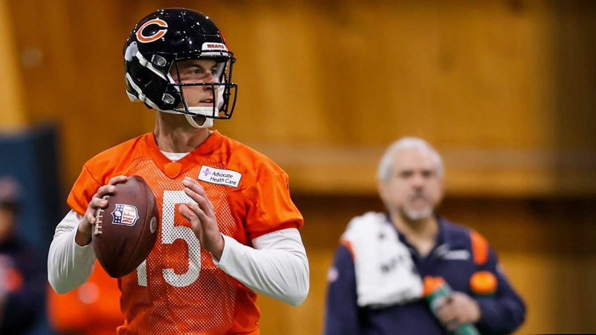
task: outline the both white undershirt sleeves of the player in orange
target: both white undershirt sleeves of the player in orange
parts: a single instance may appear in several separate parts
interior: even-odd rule
[[[91,244],[79,246],[75,235],[82,215],[70,210],[55,229],[49,246],[48,281],[57,293],[66,293],[85,283],[95,265]],[[300,305],[309,290],[306,250],[296,228],[281,229],[253,238],[253,247],[223,235],[224,252],[213,262],[250,289]]]

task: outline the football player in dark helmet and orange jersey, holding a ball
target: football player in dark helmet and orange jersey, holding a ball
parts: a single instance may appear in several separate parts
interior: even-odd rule
[[[210,129],[234,111],[234,54],[209,17],[184,8],[139,21],[123,54],[126,93],[156,111],[155,128],[85,163],[55,229],[49,283],[58,293],[85,283],[103,196],[140,175],[161,225],[145,262],[119,278],[118,333],[259,334],[257,293],[299,305],[309,266],[287,173]]]

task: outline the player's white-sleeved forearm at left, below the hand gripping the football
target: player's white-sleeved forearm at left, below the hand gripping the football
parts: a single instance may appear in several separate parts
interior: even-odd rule
[[[57,293],[76,289],[91,275],[95,265],[93,248],[75,243],[80,215],[71,211],[56,227],[48,252],[48,281]]]

